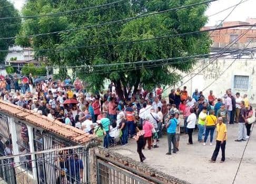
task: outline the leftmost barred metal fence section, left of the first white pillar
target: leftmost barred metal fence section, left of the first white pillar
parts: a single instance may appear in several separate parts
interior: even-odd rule
[[[7,115],[0,113],[0,156],[12,155],[12,139]],[[13,159],[0,160],[0,182],[16,184]]]

